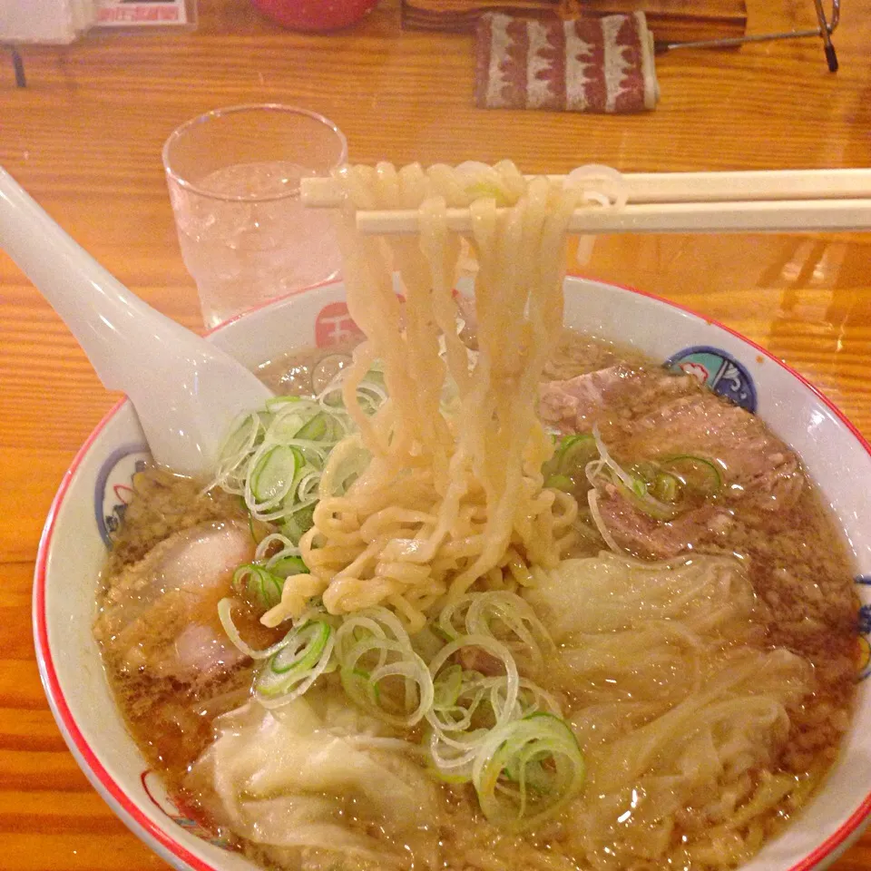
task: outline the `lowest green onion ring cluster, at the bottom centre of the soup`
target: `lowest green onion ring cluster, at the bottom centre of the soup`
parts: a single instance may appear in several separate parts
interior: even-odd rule
[[[543,713],[493,729],[472,768],[484,816],[512,831],[553,816],[580,793],[585,776],[572,729]]]

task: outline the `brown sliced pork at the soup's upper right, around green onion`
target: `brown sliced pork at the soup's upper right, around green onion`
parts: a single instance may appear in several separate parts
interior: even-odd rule
[[[724,498],[662,523],[606,485],[602,520],[634,552],[668,558],[716,535],[740,500],[775,510],[795,504],[805,482],[798,456],[757,416],[702,387],[690,376],[659,369],[613,366],[565,381],[545,382],[540,413],[562,432],[589,432],[600,424],[622,462],[690,454],[722,468]]]

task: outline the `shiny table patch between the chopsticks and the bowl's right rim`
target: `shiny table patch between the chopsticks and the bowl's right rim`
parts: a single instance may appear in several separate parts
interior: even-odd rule
[[[737,329],[871,432],[871,234],[608,236],[570,269]]]

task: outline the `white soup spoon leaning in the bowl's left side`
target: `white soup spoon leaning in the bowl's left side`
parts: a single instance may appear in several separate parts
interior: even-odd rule
[[[161,465],[209,475],[233,417],[272,395],[229,354],[126,289],[2,167],[0,247],[64,318],[103,385],[130,397]]]

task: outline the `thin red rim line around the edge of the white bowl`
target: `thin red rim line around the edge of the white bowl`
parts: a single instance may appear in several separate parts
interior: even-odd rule
[[[592,279],[592,277],[584,276],[576,272],[571,273],[571,275],[573,278],[598,280]],[[324,281],[318,285],[314,285],[311,288],[308,288],[307,290],[318,289],[325,287],[329,284],[338,283],[339,279]],[[831,411],[832,414],[836,416],[837,419],[844,426],[847,427],[847,430],[856,438],[856,441],[860,445],[862,445],[862,447],[865,448],[867,454],[871,456],[871,445],[868,444],[866,438],[856,429],[856,426],[854,426],[847,419],[847,417],[841,413],[837,406],[830,399],[828,399],[827,396],[825,396],[825,394],[823,394],[817,387],[814,387],[814,385],[811,384],[806,377],[799,374],[794,368],[788,366],[782,360],[778,359],[778,357],[774,357],[774,355],[772,355],[766,348],[761,347],[760,345],[756,344],[756,342],[753,342],[749,338],[742,336],[737,330],[727,327],[725,324],[721,324],[717,320],[705,318],[703,315],[700,315],[698,312],[693,311],[691,308],[680,305],[680,303],[671,302],[668,299],[656,296],[656,294],[647,293],[644,290],[632,288],[627,285],[614,284],[612,282],[602,283],[610,284],[611,287],[625,290],[629,293],[634,293],[641,297],[653,299],[656,302],[660,302],[663,305],[669,306],[670,308],[677,308],[680,311],[686,312],[694,318],[699,318],[702,322],[706,324],[711,324],[729,333],[729,335],[739,338],[746,345],[754,348],[764,357],[767,357],[769,360],[776,363],[779,367],[785,369],[789,373],[789,375],[796,378],[801,384],[807,387],[807,389],[814,396],[816,396],[817,399],[821,403],[823,403],[823,405],[827,406],[829,411]],[[260,308],[268,308],[269,306],[275,305],[276,302],[298,296],[302,292],[304,291],[296,291],[277,300],[270,300],[268,303],[264,303],[261,306],[250,308],[239,316],[231,318],[230,320],[220,324],[220,326],[214,328],[213,330],[210,330],[210,333],[227,327],[228,324],[245,317],[253,311],[257,311]],[[210,335],[210,333],[207,335]],[[142,810],[136,805],[132,798],[130,798],[123,791],[122,787],[103,767],[100,759],[97,758],[96,753],[93,751],[88,742],[84,739],[82,732],[79,730],[78,726],[75,723],[75,720],[73,719],[73,714],[69,709],[69,706],[64,697],[64,691],[61,689],[60,681],[57,677],[57,672],[54,670],[54,661],[52,659],[52,652],[48,643],[48,626],[45,617],[45,574],[46,565],[48,563],[48,553],[52,545],[52,536],[54,534],[54,524],[57,519],[57,514],[60,511],[61,505],[64,502],[64,496],[66,495],[70,484],[72,484],[73,477],[78,471],[79,466],[82,464],[85,455],[87,455],[88,451],[91,449],[91,446],[93,445],[97,437],[103,432],[105,426],[108,425],[109,421],[112,420],[113,416],[118,413],[118,411],[122,408],[126,401],[126,399],[122,399],[115,406],[113,406],[113,408],[109,410],[106,416],[103,417],[103,420],[101,420],[100,423],[97,424],[97,426],[94,428],[91,435],[88,436],[82,447],[79,448],[78,452],[73,458],[72,464],[64,473],[64,477],[61,480],[61,484],[58,487],[57,494],[55,494],[54,496],[52,506],[49,509],[48,516],[45,520],[43,534],[40,538],[39,549],[36,554],[36,569],[34,573],[34,639],[36,647],[36,660],[39,667],[40,677],[43,681],[45,694],[48,697],[49,702],[51,703],[51,707],[54,711],[54,717],[58,720],[58,724],[61,727],[61,732],[64,735],[64,740],[70,746],[70,749],[73,750],[73,755],[76,755],[81,759],[81,762],[85,766],[85,774],[87,774],[88,777],[92,780],[94,786],[99,785],[104,790],[104,792],[113,799],[118,807],[120,807],[122,811],[126,815],[128,815],[128,817],[130,817],[130,822],[132,822],[135,827],[139,827],[141,832],[137,832],[137,834],[143,834],[147,838],[152,838],[153,840],[157,841],[158,844],[160,844],[161,847],[167,849],[172,854],[172,856],[181,859],[182,862],[187,863],[187,865],[191,866],[191,868],[195,869],[195,871],[219,871],[218,868],[205,862],[199,856],[194,856],[187,847],[184,847],[174,837],[171,837],[171,835],[168,834],[162,827],[155,824],[152,819],[150,819],[142,812]],[[791,866],[788,871],[809,871],[809,869],[817,866],[817,863],[819,863],[821,860],[823,860],[827,856],[830,856],[835,850],[837,850],[838,847],[846,846],[849,837],[856,833],[857,828],[866,819],[869,813],[871,813],[871,792],[868,792],[864,800],[859,804],[858,807],[856,807],[856,810],[853,812],[853,814],[851,814],[850,817],[847,817],[847,820],[837,829],[836,832],[827,837],[827,839],[822,844],[812,850],[803,859],[799,860],[797,864]]]

